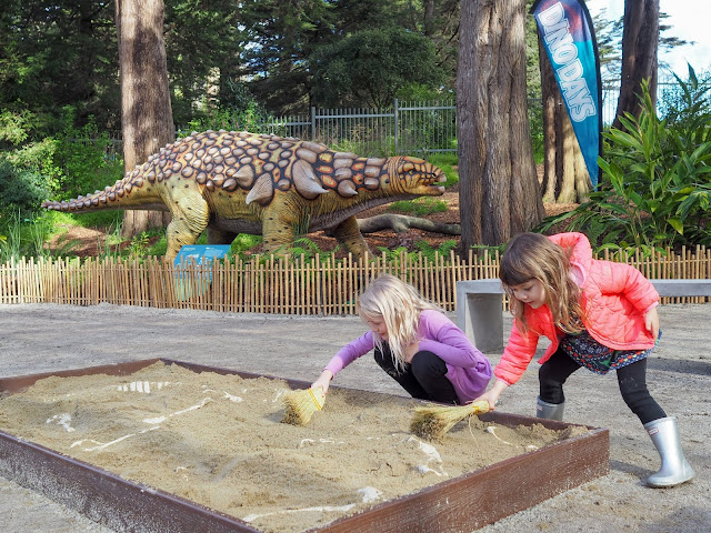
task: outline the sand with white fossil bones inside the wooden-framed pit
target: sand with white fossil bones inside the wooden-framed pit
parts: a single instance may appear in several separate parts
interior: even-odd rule
[[[264,533],[321,526],[588,431],[473,416],[432,443],[408,430],[423,403],[339,389],[294,426],[281,422],[289,391],[161,362],[130,376],[40,380],[0,400],[0,429]]]

